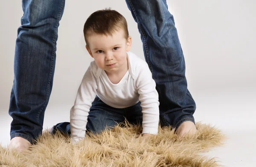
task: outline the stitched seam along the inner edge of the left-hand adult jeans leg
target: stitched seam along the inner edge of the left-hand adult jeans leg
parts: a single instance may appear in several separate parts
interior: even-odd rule
[[[55,46],[55,40],[56,40],[56,37],[57,37],[57,33],[58,33],[58,23],[59,21],[61,20],[61,12],[62,12],[62,9],[63,9],[63,6],[64,6],[64,1],[65,0],[62,0],[62,3],[61,3],[61,9],[58,13],[58,20],[57,20],[57,23],[55,25],[55,34],[54,34],[54,37],[53,37],[53,40],[52,40],[52,43],[53,43],[53,52],[52,52],[52,58],[51,58],[51,69],[50,69],[50,75],[49,75],[49,81],[48,81],[48,84],[47,84],[47,99],[46,99],[46,102],[44,104],[44,106],[40,109],[40,111],[38,112],[38,115],[36,117],[36,121],[39,122],[38,118],[39,118],[39,115],[40,113],[42,112],[42,110],[44,109],[44,107],[46,106],[47,104],[47,101],[49,100],[49,85],[50,85],[50,82],[51,82],[51,79],[52,79],[52,71],[53,71],[53,64],[54,64],[54,55],[55,55],[55,51],[56,51],[56,46]]]

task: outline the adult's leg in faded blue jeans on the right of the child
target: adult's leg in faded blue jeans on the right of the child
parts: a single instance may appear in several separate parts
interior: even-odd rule
[[[195,101],[187,89],[185,61],[166,0],[126,0],[143,42],[145,60],[156,82],[160,124],[195,124]],[[195,127],[195,125],[192,126]]]

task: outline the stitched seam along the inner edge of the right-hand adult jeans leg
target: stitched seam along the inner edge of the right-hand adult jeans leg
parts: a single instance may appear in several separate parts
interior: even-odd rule
[[[144,43],[144,46],[145,46],[145,52],[146,52],[146,58],[147,58],[147,61],[148,61],[148,67],[149,67],[149,69],[150,69],[150,71],[151,71],[151,73],[152,73],[152,78],[154,79],[153,68],[152,68],[152,64],[151,64],[150,58],[149,58],[148,45],[147,45],[147,43],[146,43],[146,41],[145,41],[145,39],[146,39],[146,37],[145,37],[145,32],[144,32],[143,28],[141,27],[140,21],[139,21],[138,16],[137,16],[137,14],[136,14],[136,12],[135,12],[134,6],[133,6],[132,3],[131,3],[131,0],[127,0],[127,1],[128,1],[128,3],[130,4],[130,6],[131,6],[132,12],[134,12],[134,15],[135,15],[135,17],[136,17],[138,26],[140,27],[140,31],[141,31],[141,34],[142,34],[142,36],[143,36],[143,43]],[[160,89],[157,87],[157,85],[156,85],[156,88],[159,90],[159,91],[157,91],[158,94],[159,94],[159,96],[162,97],[161,92],[160,92]],[[163,101],[163,103],[167,106],[167,110],[169,110],[169,106],[168,106],[164,101]]]

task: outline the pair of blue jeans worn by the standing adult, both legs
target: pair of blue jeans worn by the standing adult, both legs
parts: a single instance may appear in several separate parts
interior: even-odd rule
[[[195,101],[187,89],[185,61],[166,0],[126,0],[143,42],[145,60],[156,82],[161,126],[195,123]],[[31,143],[43,130],[52,91],[56,41],[65,0],[23,0],[24,15],[15,48],[9,115],[11,139]]]

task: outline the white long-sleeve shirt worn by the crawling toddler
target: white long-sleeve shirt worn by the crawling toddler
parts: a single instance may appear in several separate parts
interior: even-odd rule
[[[114,108],[126,108],[141,102],[143,133],[157,134],[159,123],[159,101],[156,83],[145,60],[127,52],[128,71],[122,80],[113,84],[106,72],[95,61],[90,63],[79,86],[76,101],[70,109],[72,142],[85,137],[87,116],[96,95]]]

